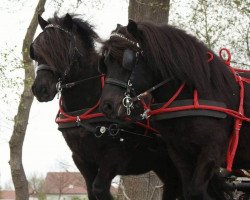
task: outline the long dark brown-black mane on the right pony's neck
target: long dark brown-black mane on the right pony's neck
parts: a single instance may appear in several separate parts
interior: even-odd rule
[[[145,58],[163,78],[172,76],[197,88],[201,94],[230,88],[232,74],[228,67],[194,36],[170,25],[137,24],[138,42]],[[208,52],[214,55],[211,62],[208,62]]]

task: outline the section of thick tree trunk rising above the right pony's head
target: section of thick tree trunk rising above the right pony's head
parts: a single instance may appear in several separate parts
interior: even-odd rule
[[[167,23],[170,0],[129,0],[128,17],[135,21]]]

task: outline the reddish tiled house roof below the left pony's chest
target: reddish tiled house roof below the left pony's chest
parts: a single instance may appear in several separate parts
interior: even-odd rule
[[[79,172],[48,172],[45,178],[46,194],[86,194],[85,180]]]

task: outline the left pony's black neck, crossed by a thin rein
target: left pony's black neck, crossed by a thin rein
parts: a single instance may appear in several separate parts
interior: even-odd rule
[[[89,66],[84,66],[84,69],[79,73],[78,80],[99,75],[97,60]],[[100,79],[90,79],[72,88],[63,89],[62,106],[64,111],[71,112],[93,107],[101,96],[102,85]]]

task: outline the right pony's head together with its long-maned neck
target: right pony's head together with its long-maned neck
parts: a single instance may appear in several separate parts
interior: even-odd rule
[[[131,79],[137,94],[171,80],[155,90],[156,102],[170,99],[182,83],[183,99],[191,98],[194,89],[204,99],[225,98],[225,92],[235,90],[233,75],[224,62],[194,36],[173,26],[130,20],[111,34],[102,53],[100,69],[107,79],[101,111],[111,118],[123,116],[124,107],[127,111],[131,107],[131,96],[126,95]]]

